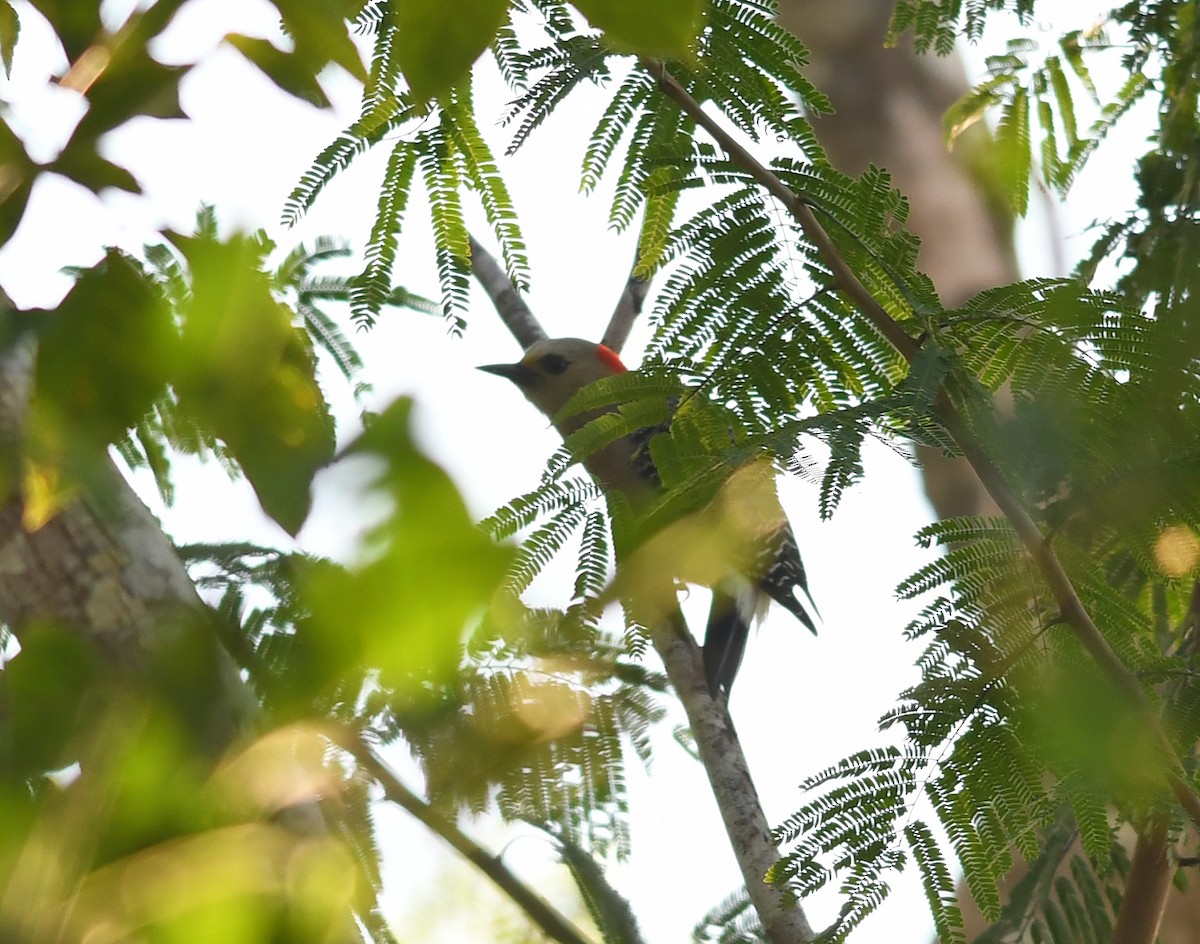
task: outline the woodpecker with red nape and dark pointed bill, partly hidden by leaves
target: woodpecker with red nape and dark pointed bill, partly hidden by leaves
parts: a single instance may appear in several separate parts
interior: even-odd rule
[[[565,439],[601,414],[617,409],[606,407],[556,419],[568,401],[589,384],[623,373],[628,368],[604,344],[565,337],[532,344],[516,363],[491,363],[479,369],[505,377],[516,384]],[[666,431],[667,425],[637,429],[598,449],[583,459],[583,465],[602,489],[619,492],[634,509],[644,507],[661,492],[649,443]],[[743,572],[731,573],[728,579],[722,579],[712,588],[713,603],[704,631],[703,653],[704,675],[714,698],[721,690],[728,698],[750,636],[750,625],[766,614],[772,600],[816,633],[812,618],[796,595],[797,590],[803,591],[816,612],[796,536],[775,497],[774,482],[763,485],[769,489],[769,495],[760,494],[756,505],[761,507],[764,501],[770,503],[766,516],[767,527],[757,528],[755,546],[749,548],[749,553],[739,554]]]

